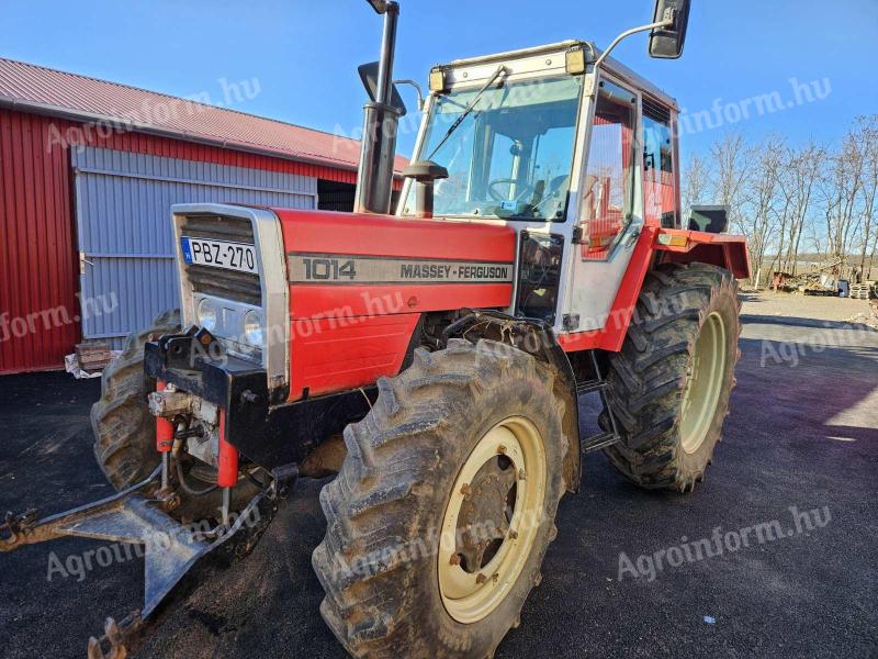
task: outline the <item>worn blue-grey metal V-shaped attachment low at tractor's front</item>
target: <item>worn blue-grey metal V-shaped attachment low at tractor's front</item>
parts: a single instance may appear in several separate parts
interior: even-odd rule
[[[0,524],[0,551],[12,551],[72,536],[144,546],[144,605],[116,623],[106,618],[103,636],[90,638],[89,659],[122,659],[136,651],[155,624],[161,605],[194,568],[217,567],[243,558],[255,546],[277,511],[278,480],[255,495],[228,527],[187,525],[162,510],[156,499],[160,468],[117,494],[42,520],[37,511],[7,513]],[[104,652],[104,649],[109,654]]]

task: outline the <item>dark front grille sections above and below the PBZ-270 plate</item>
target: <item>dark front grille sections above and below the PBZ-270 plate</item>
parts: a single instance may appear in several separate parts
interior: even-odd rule
[[[254,227],[249,220],[218,215],[187,216],[180,234],[192,238],[212,238],[230,243],[255,245]],[[259,275],[211,268],[185,266],[189,283],[194,293],[214,295],[224,300],[262,305],[262,287]]]

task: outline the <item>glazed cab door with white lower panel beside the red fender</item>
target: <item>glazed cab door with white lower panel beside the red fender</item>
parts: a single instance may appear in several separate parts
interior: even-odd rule
[[[643,227],[640,96],[601,77],[592,116],[564,333],[605,327]]]

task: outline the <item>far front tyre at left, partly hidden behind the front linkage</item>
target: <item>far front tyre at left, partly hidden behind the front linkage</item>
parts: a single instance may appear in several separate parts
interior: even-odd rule
[[[140,482],[159,462],[156,421],[147,403],[156,382],[144,373],[144,346],[150,336],[179,331],[180,312],[162,312],[151,327],[128,336],[122,355],[101,377],[101,398],[91,407],[94,458],[116,490]]]

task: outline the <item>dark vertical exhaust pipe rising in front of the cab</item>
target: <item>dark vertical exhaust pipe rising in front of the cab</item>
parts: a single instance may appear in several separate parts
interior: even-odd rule
[[[396,155],[396,130],[401,111],[391,105],[393,59],[396,51],[396,22],[399,4],[387,0],[368,0],[384,15],[384,33],[379,62],[375,101],[363,108],[363,139],[357,172],[356,213],[389,213],[393,190],[393,164]]]

